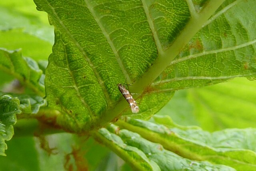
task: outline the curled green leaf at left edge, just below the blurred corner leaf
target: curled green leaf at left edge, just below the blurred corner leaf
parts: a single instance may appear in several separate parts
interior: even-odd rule
[[[22,57],[21,50],[0,48],[0,70],[13,75],[34,93],[44,96],[44,74],[34,60]]]

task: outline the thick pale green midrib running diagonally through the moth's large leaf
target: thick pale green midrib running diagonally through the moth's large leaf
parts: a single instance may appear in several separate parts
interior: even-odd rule
[[[180,33],[180,36],[174,40],[173,44],[164,51],[163,54],[159,54],[158,58],[154,61],[152,66],[142,74],[141,78],[134,82],[133,86],[129,87],[129,90],[133,93],[142,93],[144,88],[150,85],[170,64],[170,62],[178,55],[180,49],[185,46],[190,39],[201,29],[201,26],[214,14],[214,12],[220,7],[225,0],[211,0],[204,6],[204,9],[198,13],[198,15],[192,17],[184,30]],[[134,95],[136,99],[138,95]],[[124,101],[125,99],[122,99]],[[114,109],[106,111],[103,117],[98,121],[112,120],[114,117],[120,115],[126,106],[122,106],[122,101],[116,104]]]

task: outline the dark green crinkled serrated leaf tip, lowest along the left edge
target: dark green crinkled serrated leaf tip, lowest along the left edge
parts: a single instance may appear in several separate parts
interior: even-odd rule
[[[16,123],[16,114],[20,113],[19,99],[10,95],[0,96],[0,155],[6,155],[4,150],[7,145],[4,141],[9,141],[14,135],[13,125]]]

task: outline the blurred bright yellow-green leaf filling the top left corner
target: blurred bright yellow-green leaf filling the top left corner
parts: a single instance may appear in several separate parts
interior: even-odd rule
[[[35,36],[34,37],[35,40],[37,37],[37,38],[40,38],[41,40],[47,41],[50,44],[53,44],[53,40],[54,40],[53,28],[52,26],[49,26],[49,24],[47,23],[46,14],[42,12],[38,12],[36,10],[35,4],[31,0],[22,0],[22,1],[8,0],[8,1],[0,2],[0,30],[7,31],[12,29],[22,29],[22,32],[24,34],[23,35],[20,34],[21,38],[25,37],[26,35],[33,35]],[[3,36],[2,34],[4,34],[4,32],[0,32],[0,34],[1,34],[1,40],[0,40],[1,42],[1,41],[4,41],[4,39],[6,38],[2,37]],[[28,38],[29,37],[30,36],[28,36]],[[9,37],[7,40],[9,44],[6,44],[6,45],[12,46],[12,47],[16,45],[16,41],[18,42],[18,44],[22,43],[21,42],[22,39],[18,40],[17,37],[15,37],[14,35],[12,38]],[[27,42],[27,41],[25,40],[24,42]],[[9,49],[9,47],[6,47],[6,46],[1,46],[1,47]],[[17,49],[24,46],[21,46],[21,47],[15,46],[13,48],[12,47],[10,48]],[[47,48],[47,46],[43,46],[43,47]],[[33,49],[30,49],[30,50],[33,51]]]

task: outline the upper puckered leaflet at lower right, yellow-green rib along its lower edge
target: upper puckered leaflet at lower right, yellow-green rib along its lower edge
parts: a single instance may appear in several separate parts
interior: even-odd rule
[[[256,169],[256,129],[225,129],[209,133],[199,127],[176,125],[170,117],[154,118],[160,124],[138,119],[117,123],[120,127],[140,133],[142,137],[160,143],[165,149],[188,159],[206,160],[237,170]]]

